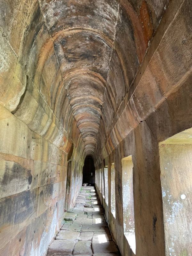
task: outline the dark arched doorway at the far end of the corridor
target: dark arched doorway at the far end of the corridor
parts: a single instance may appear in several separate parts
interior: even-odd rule
[[[83,183],[95,183],[95,166],[92,156],[86,156],[83,167]]]

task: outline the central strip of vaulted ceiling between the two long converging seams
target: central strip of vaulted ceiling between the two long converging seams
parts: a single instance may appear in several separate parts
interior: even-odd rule
[[[118,17],[116,1],[40,1],[63,86],[93,155]]]

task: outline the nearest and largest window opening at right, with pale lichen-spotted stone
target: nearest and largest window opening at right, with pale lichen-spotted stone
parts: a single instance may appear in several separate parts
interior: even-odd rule
[[[192,252],[192,128],[159,143],[165,254]]]

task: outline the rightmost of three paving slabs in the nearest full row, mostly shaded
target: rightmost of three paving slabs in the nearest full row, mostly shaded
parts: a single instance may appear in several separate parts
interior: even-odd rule
[[[93,253],[104,253],[104,252],[118,252],[118,248],[113,241],[106,241],[103,243],[92,242]]]

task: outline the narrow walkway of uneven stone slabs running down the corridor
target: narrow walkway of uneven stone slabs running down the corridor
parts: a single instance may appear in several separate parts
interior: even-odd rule
[[[65,223],[49,246],[48,255],[120,255],[112,241],[94,187],[82,187],[72,212],[65,214]]]

